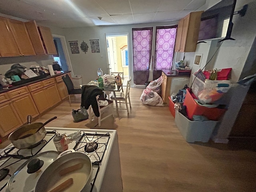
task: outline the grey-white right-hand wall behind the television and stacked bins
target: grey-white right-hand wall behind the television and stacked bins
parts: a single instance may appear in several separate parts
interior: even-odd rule
[[[206,4],[209,5],[208,8],[214,5],[212,2],[213,1],[207,0]],[[256,1],[237,0],[235,11],[241,10],[245,4],[248,4],[248,9],[245,16],[241,17],[239,14],[233,16],[232,22],[234,23],[234,26],[231,37],[236,40],[226,40],[221,46],[216,40],[206,41],[206,44],[198,44],[195,52],[195,54],[203,54],[202,63],[200,66],[202,69],[220,46],[206,68],[232,68],[231,80],[233,83],[240,79],[240,74],[243,71],[246,59],[256,36]],[[194,73],[196,70],[198,70],[198,67],[193,66],[192,73]],[[190,80],[192,80],[192,77]],[[248,87],[242,86],[238,86],[230,90],[228,94],[229,99],[226,103],[228,104],[229,110],[223,116],[217,130],[215,130],[215,134],[213,136],[213,140],[215,142],[228,142],[228,136],[232,130],[232,126],[236,120],[247,91]]]

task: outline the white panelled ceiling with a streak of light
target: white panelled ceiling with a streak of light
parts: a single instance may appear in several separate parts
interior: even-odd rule
[[[180,20],[206,0],[0,0],[0,13],[75,28]],[[100,20],[98,17],[102,17]]]

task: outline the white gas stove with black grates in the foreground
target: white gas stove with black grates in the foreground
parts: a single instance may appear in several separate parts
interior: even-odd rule
[[[65,135],[78,131],[78,128],[52,128],[45,127],[47,134],[44,140],[32,149],[19,150],[12,144],[0,150],[0,170],[8,169],[9,174],[0,181],[0,192],[9,191],[6,184],[15,171],[29,158],[47,151],[57,151],[53,142],[54,135]],[[92,162],[92,177],[90,190],[83,192],[122,192],[122,176],[118,137],[116,130],[79,129],[80,136],[68,144],[68,149],[86,153]],[[1,174],[0,174],[1,175]],[[24,185],[29,184],[24,178]],[[36,183],[29,186],[34,188]],[[23,187],[23,189],[21,189]],[[21,186],[19,192],[28,192]],[[16,192],[13,188],[11,192]],[[31,190],[33,192],[34,190]]]

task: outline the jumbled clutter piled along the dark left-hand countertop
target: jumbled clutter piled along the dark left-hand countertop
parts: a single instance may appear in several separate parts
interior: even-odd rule
[[[56,65],[56,62],[50,66],[54,65]],[[48,67],[32,65],[30,68],[27,68],[26,66],[22,66],[18,63],[13,64],[10,70],[8,70],[5,74],[0,75],[0,93],[24,86],[28,83],[50,78],[54,75],[66,73],[61,71],[61,68],[59,69],[60,71],[53,70],[53,73],[50,73],[49,71],[51,69],[49,69],[49,65]]]

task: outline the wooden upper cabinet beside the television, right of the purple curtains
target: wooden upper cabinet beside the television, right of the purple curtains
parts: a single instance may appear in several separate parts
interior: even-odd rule
[[[175,52],[195,52],[202,11],[191,12],[178,23]]]

